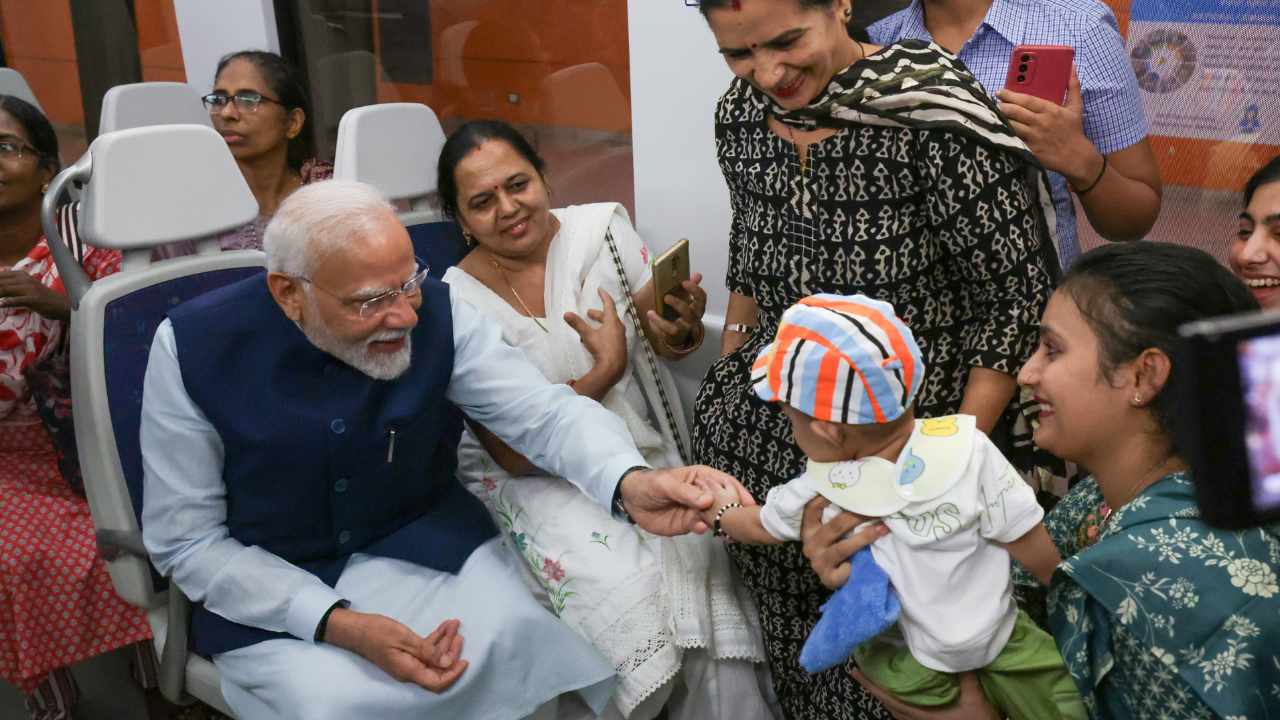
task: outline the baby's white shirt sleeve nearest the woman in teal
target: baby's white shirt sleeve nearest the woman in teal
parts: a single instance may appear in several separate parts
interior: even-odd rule
[[[1009,464],[1009,460],[983,433],[974,433],[970,464],[978,470],[980,525],[978,533],[996,542],[1014,542],[1044,519],[1036,491]],[[973,487],[973,486],[969,486]]]

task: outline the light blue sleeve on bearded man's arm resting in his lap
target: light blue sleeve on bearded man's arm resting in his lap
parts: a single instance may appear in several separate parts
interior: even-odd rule
[[[314,642],[343,598],[319,578],[227,529],[221,438],[187,395],[173,325],[156,331],[142,391],[142,538],[187,597],[233,623]]]

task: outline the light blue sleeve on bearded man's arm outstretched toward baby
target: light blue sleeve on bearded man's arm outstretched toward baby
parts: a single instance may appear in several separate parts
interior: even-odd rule
[[[552,384],[502,328],[449,288],[453,378],[449,400],[534,465],[573,483],[608,509],[630,468],[649,464],[621,418],[563,384]]]

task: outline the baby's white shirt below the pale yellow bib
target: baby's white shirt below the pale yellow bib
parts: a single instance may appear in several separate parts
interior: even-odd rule
[[[984,667],[1009,642],[1018,605],[1009,552],[997,543],[1023,537],[1044,518],[1036,492],[1000,450],[986,434],[974,436],[959,482],[882,518],[891,533],[870,546],[902,605],[897,623],[908,648],[942,673]],[[808,471],[772,488],[760,523],[781,541],[799,541],[804,506],[818,495]],[[828,506],[823,523],[838,512]]]

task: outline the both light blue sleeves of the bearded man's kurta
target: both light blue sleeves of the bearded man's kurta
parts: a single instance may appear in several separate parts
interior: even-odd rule
[[[648,466],[626,423],[563,384],[552,384],[502,340],[502,327],[449,290],[453,377],[448,398],[540,468],[611,507],[622,474]],[[233,623],[314,641],[342,602],[319,578],[227,529],[224,447],[187,395],[173,325],[151,343],[142,391],[143,542],[165,575]]]

